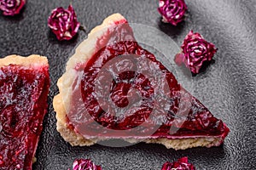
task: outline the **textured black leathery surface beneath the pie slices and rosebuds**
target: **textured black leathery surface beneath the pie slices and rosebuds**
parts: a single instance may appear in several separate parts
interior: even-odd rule
[[[58,93],[56,81],[64,71],[73,48],[86,34],[70,42],[58,42],[49,31],[47,18],[51,9],[67,7],[65,0],[28,1],[20,16],[0,15],[0,56],[9,54],[42,54],[48,56],[52,85],[49,113],[44,119],[44,132],[38,144],[33,169],[67,169],[75,158],[91,158],[103,169],[160,169],[166,161],[189,156],[197,169],[256,169],[256,1],[193,0],[186,20],[177,27],[160,22],[157,1],[86,0],[73,6],[79,21],[88,30],[109,14],[119,12],[133,23],[154,26],[166,32],[177,44],[190,29],[199,31],[218,47],[215,62],[193,77],[191,92],[215,116],[230,127],[221,147],[167,150],[159,144],[136,144],[111,148],[96,144],[71,147],[55,130],[52,99]]]

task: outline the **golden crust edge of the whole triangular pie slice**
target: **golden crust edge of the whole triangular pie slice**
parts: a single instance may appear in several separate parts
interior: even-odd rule
[[[97,141],[102,139],[84,139],[79,133],[75,133],[73,129],[68,127],[67,125],[67,113],[64,106],[63,101],[63,92],[62,86],[63,83],[65,86],[71,86],[73,79],[63,82],[63,79],[73,77],[73,68],[79,64],[86,62],[87,59],[94,53],[94,47],[96,46],[96,38],[101,37],[104,34],[103,28],[106,26],[111,26],[114,21],[119,21],[125,19],[120,14],[113,14],[109,16],[106,20],[103,21],[101,26],[96,26],[84,42],[81,42],[76,48],[75,54],[68,60],[66,72],[62,75],[59,79],[57,85],[60,90],[60,94],[57,94],[53,100],[54,109],[56,112],[56,119],[57,119],[57,131],[61,133],[63,139],[65,139],[71,145],[79,145],[79,146],[89,146],[95,144]],[[92,42],[92,43],[90,43]],[[68,94],[68,90],[65,89],[65,94]],[[136,143],[136,139],[125,139],[128,142]],[[198,146],[206,146],[210,147],[213,145],[218,145],[221,143],[221,137],[211,137],[211,138],[190,138],[190,139],[146,139],[143,142],[145,143],[153,143],[153,144],[163,144],[166,148],[172,148],[175,150],[185,150],[192,147]]]

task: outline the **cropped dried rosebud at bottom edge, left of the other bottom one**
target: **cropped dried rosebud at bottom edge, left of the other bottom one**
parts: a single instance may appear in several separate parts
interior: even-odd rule
[[[97,166],[89,159],[79,159],[73,162],[73,170],[102,170],[102,167]]]

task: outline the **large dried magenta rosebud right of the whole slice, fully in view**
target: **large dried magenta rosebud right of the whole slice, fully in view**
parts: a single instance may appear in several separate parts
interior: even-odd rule
[[[217,48],[211,42],[207,42],[199,33],[189,31],[181,47],[184,54],[184,64],[191,72],[197,74],[205,61],[212,60]]]

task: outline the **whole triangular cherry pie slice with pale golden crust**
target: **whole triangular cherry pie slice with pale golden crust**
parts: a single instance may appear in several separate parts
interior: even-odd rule
[[[183,150],[218,146],[230,131],[136,42],[120,14],[81,42],[57,85],[57,130],[72,145],[124,139]]]

